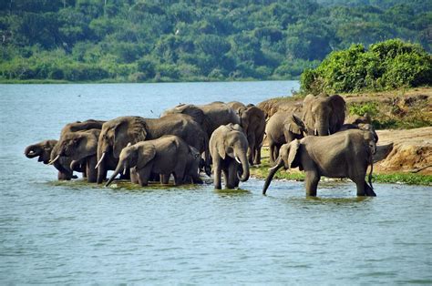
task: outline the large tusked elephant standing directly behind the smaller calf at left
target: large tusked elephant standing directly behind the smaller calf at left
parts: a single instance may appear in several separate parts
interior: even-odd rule
[[[204,153],[206,172],[210,174],[209,138],[192,117],[170,114],[160,118],[117,117],[102,126],[98,139],[98,183],[107,177],[105,158],[114,158],[116,165],[122,148],[128,143],[176,135]]]

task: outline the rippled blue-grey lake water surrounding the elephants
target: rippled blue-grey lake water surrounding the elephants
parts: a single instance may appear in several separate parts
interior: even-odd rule
[[[23,155],[67,123],[158,117],[179,103],[258,103],[298,82],[1,85],[0,283],[411,284],[432,283],[432,189],[263,181],[215,191],[112,188]],[[151,111],[150,111],[151,110]]]

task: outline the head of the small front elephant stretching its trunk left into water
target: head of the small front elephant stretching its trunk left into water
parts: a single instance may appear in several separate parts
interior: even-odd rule
[[[108,179],[106,187],[118,176],[119,173],[127,169],[144,168],[149,162],[155,158],[156,148],[152,143],[141,142],[140,144],[131,145],[130,143],[126,148],[123,148],[119,154],[118,165],[114,173]]]

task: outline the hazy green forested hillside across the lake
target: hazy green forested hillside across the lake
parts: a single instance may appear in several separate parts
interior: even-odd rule
[[[431,21],[420,0],[7,0],[0,79],[293,78],[353,43],[430,52]]]

